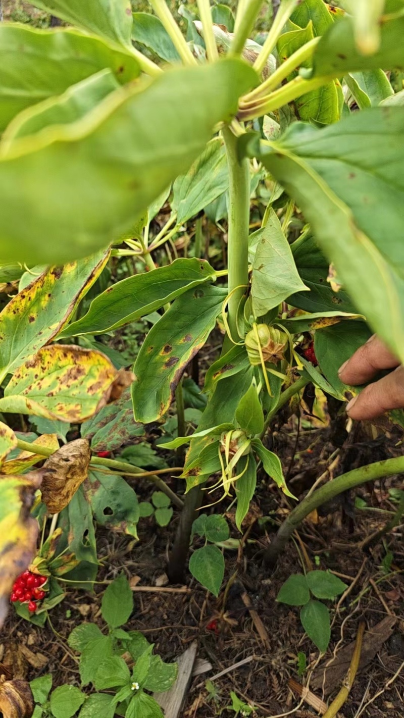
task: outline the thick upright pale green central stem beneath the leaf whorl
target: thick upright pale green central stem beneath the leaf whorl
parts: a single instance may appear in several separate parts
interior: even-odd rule
[[[228,127],[222,129],[229,168],[229,228],[227,244],[228,324],[232,337],[238,337],[237,312],[248,284],[248,233],[250,223],[250,163],[238,159],[237,137]],[[238,287],[240,289],[238,289]]]

